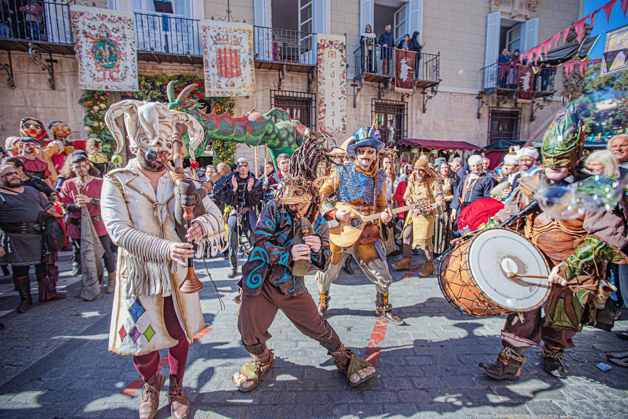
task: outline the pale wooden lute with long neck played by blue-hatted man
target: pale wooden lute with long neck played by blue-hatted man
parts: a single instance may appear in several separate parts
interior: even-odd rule
[[[424,198],[414,204],[394,208],[393,210],[390,210],[390,213],[394,215],[408,210],[414,210],[414,213],[416,214],[430,212],[435,210],[435,208],[433,208],[433,203],[434,201],[431,199]],[[333,226],[329,229],[329,240],[339,247],[350,247],[354,245],[354,243],[360,238],[360,235],[362,235],[362,230],[364,230],[366,223],[379,220],[383,214],[376,213],[372,215],[362,215],[349,205],[340,201],[335,203],[334,206],[338,208],[338,210],[351,211],[349,220],[338,221],[339,224],[337,226]]]

